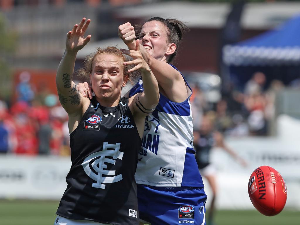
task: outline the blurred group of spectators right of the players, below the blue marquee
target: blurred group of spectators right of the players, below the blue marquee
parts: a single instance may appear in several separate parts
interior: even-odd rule
[[[243,91],[232,86],[229,94],[210,103],[205,93],[195,86],[191,98],[194,129],[199,130],[205,114],[214,122],[215,130],[224,136],[269,135],[275,116],[275,96],[284,87],[283,82],[275,79],[266,85],[265,74],[256,72]]]

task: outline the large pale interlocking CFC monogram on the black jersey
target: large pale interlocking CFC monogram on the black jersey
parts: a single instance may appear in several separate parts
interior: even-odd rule
[[[85,173],[93,180],[97,181],[97,183],[93,183],[92,187],[102,188],[105,189],[105,184],[108,183],[115,183],[122,180],[122,174],[116,175],[116,170],[104,170],[107,168],[107,165],[104,163],[116,164],[116,160],[123,158],[124,152],[119,152],[120,150],[120,143],[116,144],[108,144],[107,142],[103,143],[103,151],[95,152],[89,155],[87,158],[84,159],[83,163],[81,164]],[[114,150],[108,150],[114,149]],[[106,156],[113,157],[106,158]],[[93,161],[91,164],[90,162]],[[96,171],[96,173],[93,171]],[[116,175],[106,177],[103,175]]]

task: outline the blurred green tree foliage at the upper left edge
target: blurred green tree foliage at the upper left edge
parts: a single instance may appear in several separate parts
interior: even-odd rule
[[[12,94],[12,68],[11,60],[16,49],[17,35],[7,29],[4,16],[0,13],[0,98],[9,100]]]

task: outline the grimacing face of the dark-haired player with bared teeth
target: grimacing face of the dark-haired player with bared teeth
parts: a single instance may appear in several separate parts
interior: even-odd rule
[[[153,58],[161,60],[169,49],[167,28],[162,22],[146,22],[140,32],[141,44]]]

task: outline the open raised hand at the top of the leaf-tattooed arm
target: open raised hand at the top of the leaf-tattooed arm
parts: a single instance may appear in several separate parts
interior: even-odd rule
[[[91,35],[84,38],[84,34],[91,20],[82,18],[81,22],[76,24],[71,31],[67,33],[66,51],[77,52],[82,49],[91,39]]]

